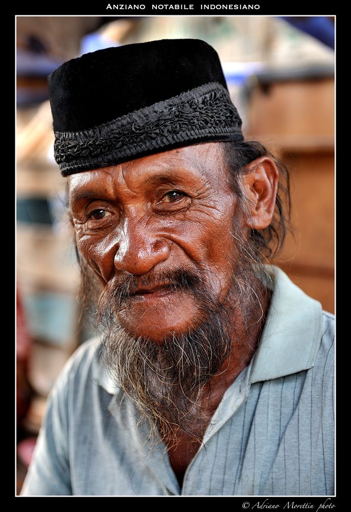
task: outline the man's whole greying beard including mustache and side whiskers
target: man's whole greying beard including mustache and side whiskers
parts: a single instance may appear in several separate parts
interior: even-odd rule
[[[91,275],[84,264],[82,277],[83,288],[91,288]],[[138,286],[157,281],[191,293],[198,306],[188,331],[168,333],[162,343],[133,335],[119,321],[119,311],[128,307]],[[225,372],[238,344],[245,343],[245,332],[258,310],[256,281],[246,261],[236,267],[232,279],[231,296],[237,300],[225,304],[208,291],[199,275],[188,271],[158,273],[157,279],[152,273],[143,278],[125,276],[118,287],[107,286],[100,295],[97,326],[103,340],[103,364],[148,421],[156,439],[160,434],[163,439],[174,439],[180,431],[200,442],[209,421],[203,403],[210,399],[211,381]]]

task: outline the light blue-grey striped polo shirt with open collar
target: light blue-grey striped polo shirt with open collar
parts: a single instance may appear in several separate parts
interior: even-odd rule
[[[99,364],[61,372],[21,495],[334,495],[334,317],[277,267],[258,349],[225,392],[182,487],[165,445]]]

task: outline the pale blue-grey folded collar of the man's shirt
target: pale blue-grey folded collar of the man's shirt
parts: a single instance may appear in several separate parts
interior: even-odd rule
[[[250,383],[312,368],[322,330],[319,302],[298,288],[275,266],[267,266],[273,288],[267,319],[250,364]],[[98,370],[98,369],[96,369]],[[99,365],[97,380],[111,395],[119,388]]]

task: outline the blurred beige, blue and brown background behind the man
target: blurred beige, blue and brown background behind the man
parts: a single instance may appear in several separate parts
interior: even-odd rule
[[[247,138],[289,167],[293,225],[275,260],[334,312],[334,17],[17,16],[17,493],[53,382],[91,335],[53,158],[46,77],[83,53],[193,37],[222,61]]]

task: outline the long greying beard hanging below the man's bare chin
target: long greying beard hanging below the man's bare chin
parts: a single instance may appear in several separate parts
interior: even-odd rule
[[[209,396],[210,381],[231,352],[228,310],[204,293],[197,300],[205,319],[185,333],[169,334],[162,343],[133,336],[116,322],[113,308],[99,309],[106,368],[152,430],[167,439],[179,429],[198,438],[208,419],[201,400]]]

